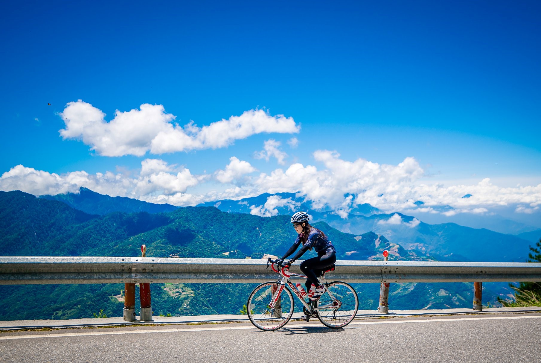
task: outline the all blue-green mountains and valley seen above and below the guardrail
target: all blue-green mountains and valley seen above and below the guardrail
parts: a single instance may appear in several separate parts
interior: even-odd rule
[[[269,196],[261,196],[261,206]],[[113,198],[88,189],[81,190],[80,195],[40,198],[23,192],[0,192],[0,248],[2,255],[11,256],[129,256],[137,255],[138,247],[146,244],[147,254],[156,257],[261,258],[264,253],[281,254],[293,242],[295,233],[289,223],[289,208],[275,216],[261,217],[241,213],[246,210],[223,212],[222,208],[230,207],[228,203],[233,204],[222,201],[214,203],[219,204],[217,208],[177,208]],[[249,204],[235,203],[242,208]],[[315,223],[316,227],[329,235],[342,260],[381,259],[384,249],[391,251],[391,259],[398,260],[475,259],[477,245],[481,250],[487,249],[482,246],[485,241],[496,243],[498,239],[498,246],[516,243],[526,246],[523,255],[527,252],[529,242],[517,236],[453,223],[427,225],[413,217],[377,212],[371,206],[360,206],[346,225],[328,211],[310,211],[314,220],[320,221]],[[389,223],[393,218],[393,222],[398,221],[395,215],[400,217],[400,223]],[[467,243],[458,243],[461,239]],[[520,255],[520,248],[511,252]],[[508,258],[507,252],[500,260]],[[487,253],[487,261],[487,256],[494,260],[498,257]],[[509,258],[514,257],[509,254]],[[361,308],[377,308],[376,285],[357,285]],[[396,309],[471,306],[471,285],[393,284],[391,301]],[[0,286],[0,301],[6,307],[0,319],[87,318],[100,309],[109,316],[121,316],[122,289],[122,285],[115,284]],[[156,315],[192,315],[238,313],[252,286],[179,283],[153,284],[151,289]],[[507,293],[500,284],[486,296],[495,300],[497,295]],[[223,304],[223,299],[228,299],[228,303]]]

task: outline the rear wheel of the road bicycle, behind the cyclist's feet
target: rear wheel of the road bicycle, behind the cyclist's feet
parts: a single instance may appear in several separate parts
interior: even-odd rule
[[[318,319],[329,328],[348,325],[357,314],[359,299],[349,283],[333,281],[318,300]]]

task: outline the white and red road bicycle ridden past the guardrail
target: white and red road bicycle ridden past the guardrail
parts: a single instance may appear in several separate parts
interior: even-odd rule
[[[302,303],[302,311],[305,315],[301,319],[306,322],[317,316],[319,321],[329,328],[342,328],[355,318],[359,308],[359,299],[351,285],[343,281],[322,281],[325,291],[321,297],[306,302],[289,278],[308,279],[308,277],[289,272],[290,265],[287,262],[279,263],[276,269],[274,268],[276,261],[269,258],[267,268],[269,263],[272,263],[271,268],[279,274],[278,281],[263,282],[248,297],[246,312],[248,319],[255,327],[264,331],[275,331],[291,319],[295,305],[293,295],[287,286],[293,290]],[[325,273],[331,270],[334,270],[334,265],[321,270],[318,277],[325,280]]]

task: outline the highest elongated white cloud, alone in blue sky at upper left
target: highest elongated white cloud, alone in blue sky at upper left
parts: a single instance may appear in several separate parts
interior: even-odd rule
[[[263,110],[245,111],[240,116],[197,127],[171,123],[163,105],[142,104],[140,109],[116,111],[113,120],[90,103],[69,102],[61,114],[64,139],[82,140],[91,150],[103,156],[174,153],[183,150],[222,148],[251,135],[261,133],[298,133],[300,127],[292,117],[271,116]]]

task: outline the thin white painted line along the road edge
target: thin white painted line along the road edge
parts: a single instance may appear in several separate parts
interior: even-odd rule
[[[352,322],[352,325],[374,325],[374,324],[405,324],[412,322],[441,322],[441,321],[467,321],[467,320],[517,320],[517,319],[539,319],[541,315],[533,316],[484,316],[478,318],[446,318],[446,319],[422,319],[422,320],[384,320],[384,321],[359,321]],[[285,328],[313,328],[320,327],[306,324],[289,324]],[[321,326],[321,328],[324,328]],[[88,332],[88,333],[58,333],[58,334],[39,334],[39,335],[11,335],[0,336],[0,340],[11,339],[31,339],[31,338],[63,338],[66,336],[85,336],[85,335],[116,335],[116,334],[143,334],[143,333],[186,333],[186,332],[204,332],[216,330],[240,330],[256,329],[254,326],[234,326],[234,327],[211,327],[211,328],[185,328],[185,329],[149,329],[134,331],[111,331],[111,332]]]

